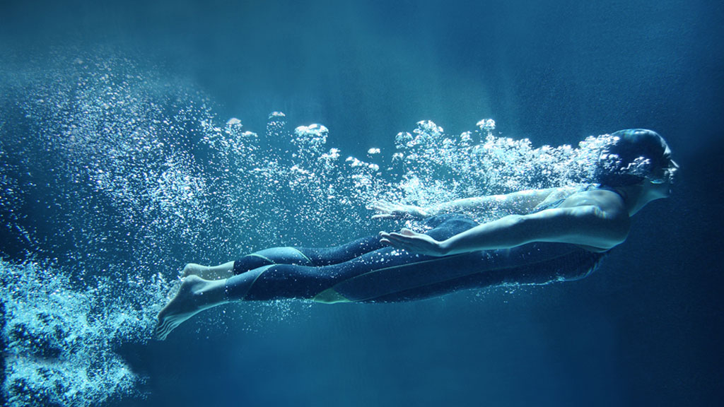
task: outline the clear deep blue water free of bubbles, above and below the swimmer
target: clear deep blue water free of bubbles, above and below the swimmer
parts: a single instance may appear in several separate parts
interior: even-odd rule
[[[713,0],[3,1],[0,51],[118,49],[222,119],[262,132],[282,110],[352,154],[420,119],[492,117],[536,145],[649,127],[681,161],[675,196],[584,281],[295,305],[257,332],[209,311],[226,332],[197,322],[130,352],[144,405],[704,406],[724,396],[723,22]]]

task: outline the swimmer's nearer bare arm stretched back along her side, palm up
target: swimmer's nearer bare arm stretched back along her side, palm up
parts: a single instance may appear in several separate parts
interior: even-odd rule
[[[382,233],[382,243],[432,256],[513,248],[532,242],[572,243],[607,250],[628,236],[628,214],[598,206],[547,209],[536,214],[510,215],[438,242],[410,230]]]

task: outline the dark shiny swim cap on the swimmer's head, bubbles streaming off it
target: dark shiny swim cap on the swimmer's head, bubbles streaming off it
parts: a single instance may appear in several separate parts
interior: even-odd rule
[[[603,186],[637,185],[670,164],[666,141],[652,130],[619,130],[610,137],[595,172]]]

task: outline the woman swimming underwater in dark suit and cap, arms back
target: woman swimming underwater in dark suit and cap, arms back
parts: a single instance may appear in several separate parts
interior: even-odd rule
[[[215,267],[188,264],[156,336],[231,301],[411,301],[506,282],[578,280],[623,243],[630,218],[670,195],[678,165],[652,130],[620,130],[602,148],[598,184],[524,190],[429,208],[378,203],[373,218],[427,218],[431,230],[381,232],[336,248],[269,248]],[[463,209],[510,215],[478,224]]]

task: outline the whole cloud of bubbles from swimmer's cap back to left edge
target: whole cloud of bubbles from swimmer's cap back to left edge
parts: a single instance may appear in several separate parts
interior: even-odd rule
[[[378,200],[588,182],[607,142],[534,148],[494,135],[492,119],[460,135],[424,121],[360,159],[328,146],[323,125],[290,130],[282,112],[261,134],[219,119],[203,95],[117,56],[42,65],[0,84],[4,393],[18,406],[135,394],[142,379],[116,350],[150,338],[185,263],[399,227],[371,222]]]

